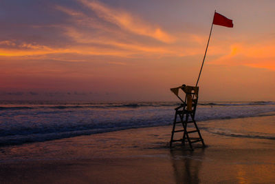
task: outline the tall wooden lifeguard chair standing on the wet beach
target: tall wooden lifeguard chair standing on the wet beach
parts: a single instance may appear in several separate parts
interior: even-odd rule
[[[202,146],[205,147],[201,133],[199,132],[199,127],[197,126],[197,123],[195,121],[197,101],[199,98],[199,87],[181,85],[177,88],[171,88],[170,90],[181,101],[181,105],[175,108],[175,119],[173,122],[170,147],[172,147],[172,144],[177,141],[181,142],[182,145],[185,145],[185,143],[188,142],[191,150],[193,150],[192,143],[201,142]],[[181,99],[181,97],[179,96],[179,90],[182,90],[184,92],[185,100]],[[181,127],[181,130],[175,130],[178,124],[182,125],[184,129],[182,129]],[[193,125],[193,127],[187,125]],[[174,134],[177,132],[184,132],[182,139],[174,139]],[[196,132],[199,137],[192,136]]]

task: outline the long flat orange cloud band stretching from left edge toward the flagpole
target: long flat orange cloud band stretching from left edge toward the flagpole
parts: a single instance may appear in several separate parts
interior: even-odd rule
[[[202,53],[200,48],[188,48],[179,45],[160,45],[150,46],[144,43],[123,43],[107,38],[87,39],[89,35],[78,33],[77,30],[67,28],[67,34],[75,39],[76,43],[69,45],[67,48],[57,48],[48,45],[40,45],[38,43],[14,43],[12,41],[5,41],[3,47],[0,46],[0,56],[2,57],[32,57],[32,58],[48,58],[48,59],[63,59],[64,61],[78,61],[77,55],[72,59],[71,55],[68,57],[65,54],[80,55],[96,55],[96,56],[115,56],[125,58],[140,57],[184,57]],[[86,38],[86,39],[85,39]],[[12,45],[12,48],[7,47]],[[54,56],[53,56],[54,54]],[[61,57],[58,57],[61,55]]]

